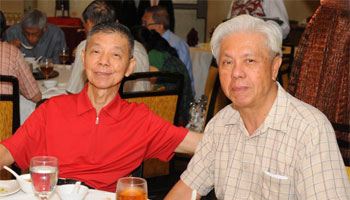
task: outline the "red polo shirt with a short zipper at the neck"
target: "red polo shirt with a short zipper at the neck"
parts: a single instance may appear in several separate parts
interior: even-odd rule
[[[115,192],[117,180],[143,160],[170,160],[187,132],[119,94],[97,118],[85,86],[79,94],[43,103],[2,144],[22,169],[29,168],[34,156],[55,156],[59,177]]]

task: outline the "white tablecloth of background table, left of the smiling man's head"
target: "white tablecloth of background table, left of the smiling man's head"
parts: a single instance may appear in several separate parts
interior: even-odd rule
[[[69,80],[70,74],[72,73],[71,65],[55,65],[55,70],[58,71],[59,75],[50,80],[57,80],[57,86],[54,88],[47,89],[45,88],[43,81],[39,80],[38,85],[42,93],[42,98],[50,98],[53,96],[67,94],[65,87]],[[21,125],[29,117],[29,115],[35,109],[35,103],[27,100],[24,96],[20,95],[19,97],[19,109],[20,109],[20,118]]]

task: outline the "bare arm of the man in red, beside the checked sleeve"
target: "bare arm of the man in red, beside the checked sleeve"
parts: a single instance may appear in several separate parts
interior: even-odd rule
[[[176,153],[186,153],[186,154],[194,154],[198,142],[201,140],[203,134],[189,131],[186,135],[185,139],[177,146],[175,149]]]

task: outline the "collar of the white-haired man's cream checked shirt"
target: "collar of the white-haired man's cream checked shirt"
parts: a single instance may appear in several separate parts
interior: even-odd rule
[[[277,87],[277,97],[269,111],[269,114],[267,115],[262,124],[262,132],[266,131],[268,128],[279,130],[284,133],[287,132],[287,122],[285,120],[285,114],[287,112],[287,105],[289,104],[288,94],[278,82]],[[231,116],[228,116],[228,121],[226,125],[239,125],[240,123],[243,123],[239,112],[231,112],[230,115]]]

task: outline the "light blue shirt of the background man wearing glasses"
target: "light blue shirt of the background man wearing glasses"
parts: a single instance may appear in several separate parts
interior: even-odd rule
[[[190,75],[191,79],[192,95],[195,96],[190,49],[188,48],[187,43],[170,30],[165,31],[162,37],[169,42],[170,46],[176,49],[180,60],[185,64],[188,75]]]

